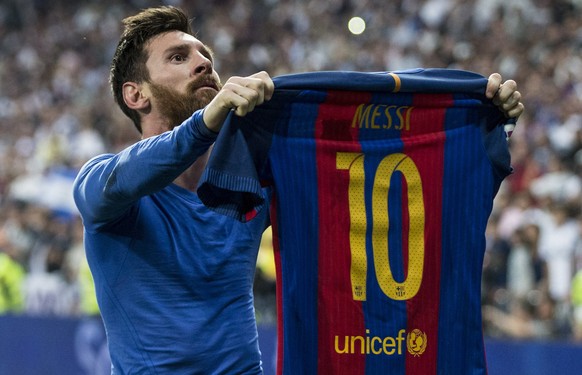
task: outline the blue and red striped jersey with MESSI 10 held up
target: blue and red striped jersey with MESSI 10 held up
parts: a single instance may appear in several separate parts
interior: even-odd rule
[[[274,187],[278,374],[485,374],[485,226],[510,171],[487,80],[277,77],[229,117],[198,194],[249,220]]]

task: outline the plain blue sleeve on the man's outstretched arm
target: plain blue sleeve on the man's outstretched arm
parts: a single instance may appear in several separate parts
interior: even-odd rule
[[[137,142],[118,154],[89,160],[73,186],[75,203],[88,227],[120,217],[139,198],[174,181],[215,141],[203,111],[171,131]]]

